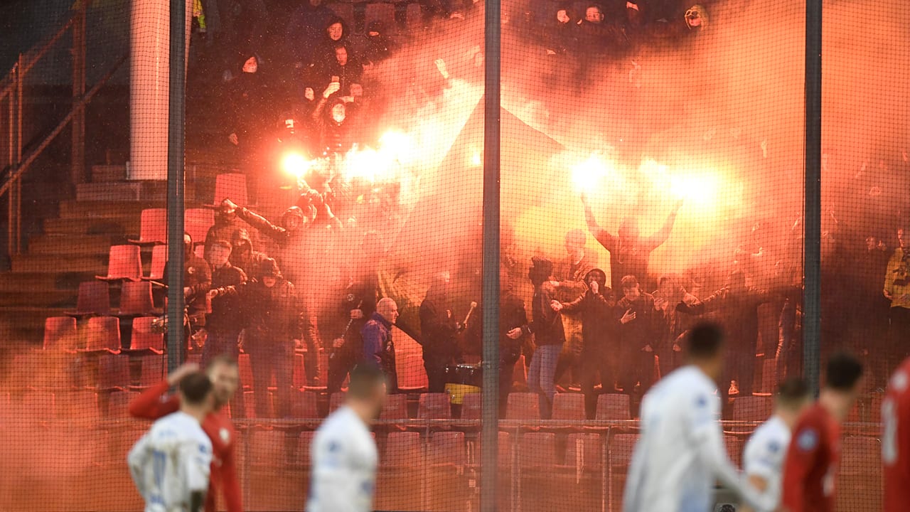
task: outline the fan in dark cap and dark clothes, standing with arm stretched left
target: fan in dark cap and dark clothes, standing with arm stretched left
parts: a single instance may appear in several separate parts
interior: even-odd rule
[[[253,279],[236,286],[215,288],[210,299],[237,297],[246,312],[244,351],[249,354],[253,371],[256,417],[269,417],[268,384],[274,375],[278,387],[276,417],[290,413],[292,364],[296,340],[315,340],[316,326],[307,312],[306,302],[294,285],[284,279],[278,263],[262,261]],[[315,355],[315,351],[310,351]],[[251,415],[247,411],[247,415]]]

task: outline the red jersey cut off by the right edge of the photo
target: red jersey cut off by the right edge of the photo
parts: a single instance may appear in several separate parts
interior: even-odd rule
[[[910,503],[910,358],[888,382],[882,426],[885,512],[904,511]]]

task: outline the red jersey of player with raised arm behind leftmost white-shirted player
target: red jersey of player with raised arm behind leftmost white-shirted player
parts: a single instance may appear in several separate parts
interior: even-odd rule
[[[170,384],[162,381],[139,394],[129,404],[129,414],[136,418],[157,420],[176,412],[180,408],[180,397],[173,394],[165,399]],[[212,473],[209,477],[206,496],[206,511],[215,512],[215,495],[220,486],[225,496],[227,512],[242,512],[243,499],[237,480],[237,466],[234,462],[234,439],[237,433],[230,418],[223,412],[209,413],[202,422],[202,430],[212,440]]]

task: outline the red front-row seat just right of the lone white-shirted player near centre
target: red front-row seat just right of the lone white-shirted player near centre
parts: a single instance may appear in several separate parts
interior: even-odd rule
[[[424,455],[417,432],[392,432],[379,457],[377,510],[424,510]]]

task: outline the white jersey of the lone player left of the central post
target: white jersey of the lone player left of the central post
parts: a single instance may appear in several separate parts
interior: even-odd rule
[[[312,459],[307,512],[369,512],[373,509],[376,442],[367,425],[342,406],[319,426]]]

